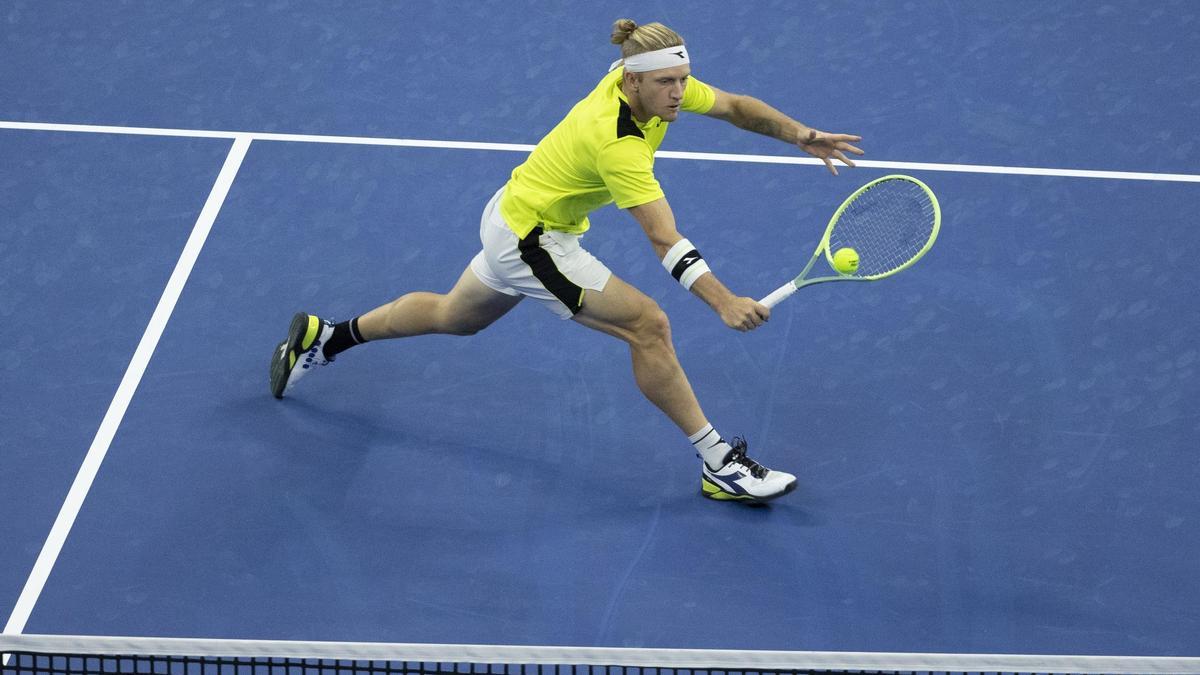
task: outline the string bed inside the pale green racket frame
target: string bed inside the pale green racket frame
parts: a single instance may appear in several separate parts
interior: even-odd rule
[[[896,177],[864,190],[842,210],[829,233],[829,251],[858,251],[853,276],[874,277],[895,271],[931,244],[937,209],[917,183]]]

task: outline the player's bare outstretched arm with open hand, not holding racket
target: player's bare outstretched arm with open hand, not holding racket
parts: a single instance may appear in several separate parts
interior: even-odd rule
[[[854,162],[846,157],[846,153],[854,155],[863,154],[860,149],[852,145],[852,143],[863,139],[860,136],[826,133],[793,120],[754,96],[730,94],[715,86],[712,89],[716,95],[716,101],[704,113],[706,115],[725,120],[739,129],[770,136],[784,143],[796,145],[800,150],[823,161],[834,175],[838,175],[838,167],[833,163],[834,160],[839,160],[846,166],[852,167]]]

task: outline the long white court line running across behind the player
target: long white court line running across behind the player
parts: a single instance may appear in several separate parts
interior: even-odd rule
[[[78,133],[122,133],[131,136],[172,136],[181,138],[251,138],[253,141],[277,141],[290,143],[336,143],[346,145],[385,145],[396,148],[443,148],[450,150],[498,150],[508,153],[529,153],[533,145],[518,143],[479,143],[469,141],[425,141],[414,138],[372,138],[364,136],[314,136],[302,133],[259,133],[241,131],[204,131],[187,129],[154,129],[139,126],[95,126],[80,124],[48,124],[0,121],[0,129],[24,131],[66,131]],[[779,156],[779,155],[737,155],[726,153],[680,153],[660,151],[659,157],[668,160],[707,160],[715,162],[754,162],[772,165],[809,165],[822,166],[815,157]],[[1043,167],[1002,167],[985,165],[949,165],[928,162],[890,162],[877,160],[854,160],[863,168],[882,168],[895,171],[936,171],[958,173],[990,173],[1001,175],[1046,175],[1060,178],[1103,178],[1110,180],[1158,180],[1168,183],[1200,183],[1200,174],[1188,173],[1148,173],[1127,171],[1092,171]]]

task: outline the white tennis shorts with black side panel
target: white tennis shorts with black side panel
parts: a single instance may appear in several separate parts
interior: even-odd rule
[[[604,291],[612,271],[580,246],[580,237],[535,228],[517,239],[500,217],[499,189],[484,208],[479,239],[484,244],[470,270],[488,288],[505,295],[528,295],[562,318],[583,306],[587,291]]]

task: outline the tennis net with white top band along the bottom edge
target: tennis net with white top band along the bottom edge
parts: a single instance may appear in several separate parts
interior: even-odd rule
[[[1200,658],[0,635],[2,675],[1200,674]]]

